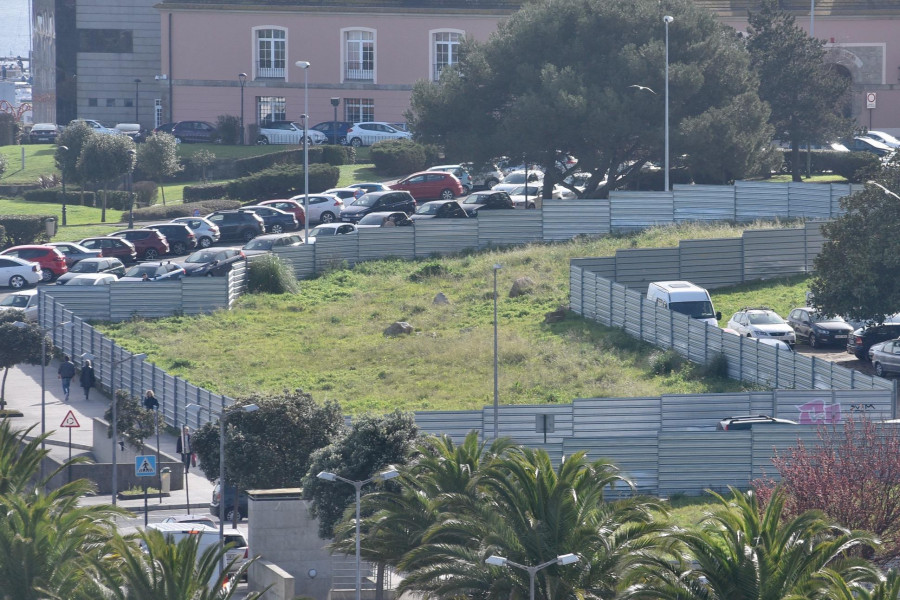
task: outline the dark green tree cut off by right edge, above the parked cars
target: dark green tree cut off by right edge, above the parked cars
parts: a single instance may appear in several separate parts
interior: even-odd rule
[[[845,211],[822,226],[813,303],[827,314],[884,321],[900,306],[900,163],[883,167],[863,190],[841,199]]]

